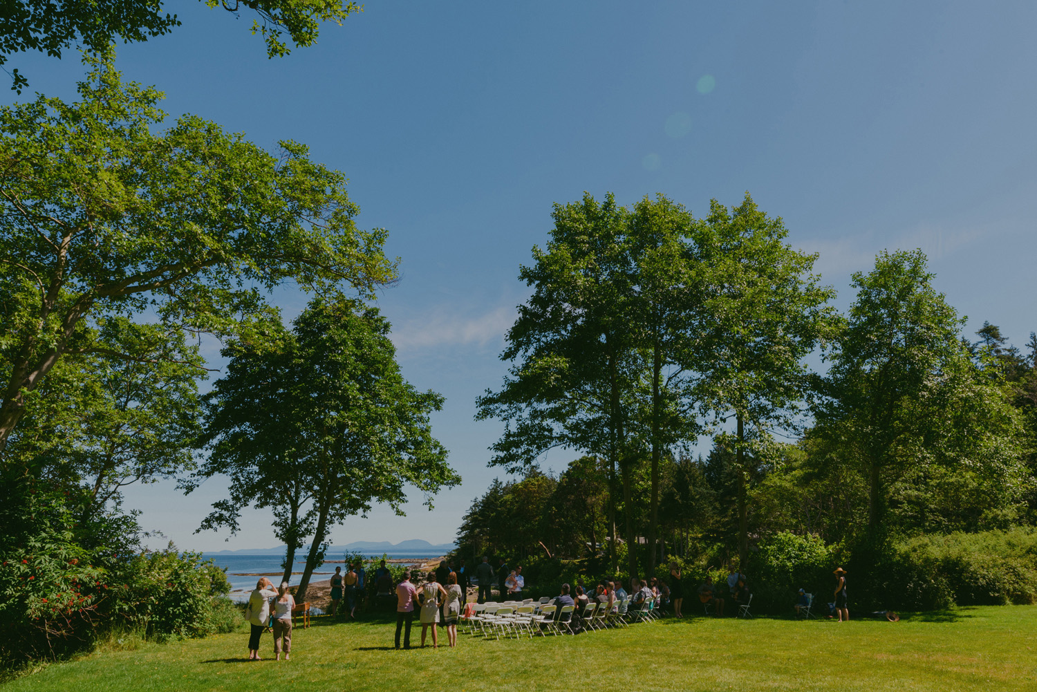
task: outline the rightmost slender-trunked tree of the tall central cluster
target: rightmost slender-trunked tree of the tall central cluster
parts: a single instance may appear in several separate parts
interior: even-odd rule
[[[699,367],[706,408],[735,419],[728,439],[736,459],[738,558],[745,565],[746,453],[758,453],[770,430],[791,423],[807,389],[804,358],[830,329],[834,315],[826,303],[835,293],[810,274],[816,255],[786,244],[781,218],[768,217],[748,193],[730,211],[712,200],[701,230],[696,252],[708,272],[701,335],[708,356]]]

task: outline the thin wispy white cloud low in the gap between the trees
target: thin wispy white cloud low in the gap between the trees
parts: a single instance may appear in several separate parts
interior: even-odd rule
[[[438,308],[393,326],[392,340],[401,352],[414,353],[445,345],[483,347],[503,340],[515,320],[512,307],[498,307],[481,314]]]

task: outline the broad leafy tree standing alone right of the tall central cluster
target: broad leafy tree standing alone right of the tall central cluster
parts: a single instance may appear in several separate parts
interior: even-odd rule
[[[853,274],[857,301],[814,407],[818,434],[866,478],[873,546],[887,534],[891,493],[910,476],[915,494],[935,490],[956,498],[952,504],[977,504],[961,502],[966,492],[1010,505],[1022,492],[1021,436],[1000,384],[999,354],[988,343],[988,367],[976,367],[958,335],[963,321],[933,288],[933,276],[921,250],[882,252],[870,273]],[[984,494],[984,485],[999,491]],[[941,504],[928,510],[940,514]],[[925,525],[921,517],[913,522]]]

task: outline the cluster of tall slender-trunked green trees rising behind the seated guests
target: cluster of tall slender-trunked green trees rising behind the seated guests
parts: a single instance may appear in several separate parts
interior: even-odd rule
[[[829,329],[831,290],[748,195],[733,210],[714,201],[705,219],[662,195],[629,210],[585,195],[554,218],[548,248],[521,270],[533,296],[507,335],[502,358],[514,365],[478,400],[478,417],[506,423],[491,463],[529,469],[555,447],[607,460],[614,568],[617,542],[642,538],[633,508],[646,468],[653,572],[664,459],[729,415],[739,462],[769,438]],[[747,531],[742,521],[744,545]]]

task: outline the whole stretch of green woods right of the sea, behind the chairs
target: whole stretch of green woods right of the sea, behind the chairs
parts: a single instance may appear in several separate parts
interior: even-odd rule
[[[586,195],[554,219],[521,269],[509,375],[478,402],[506,424],[491,464],[521,479],[474,501],[463,554],[662,575],[745,569],[792,534],[878,564],[910,536],[1037,521],[1037,336],[965,338],[921,251],[853,274],[840,314],[748,195],[704,219]],[[583,455],[544,474],[558,448]]]

